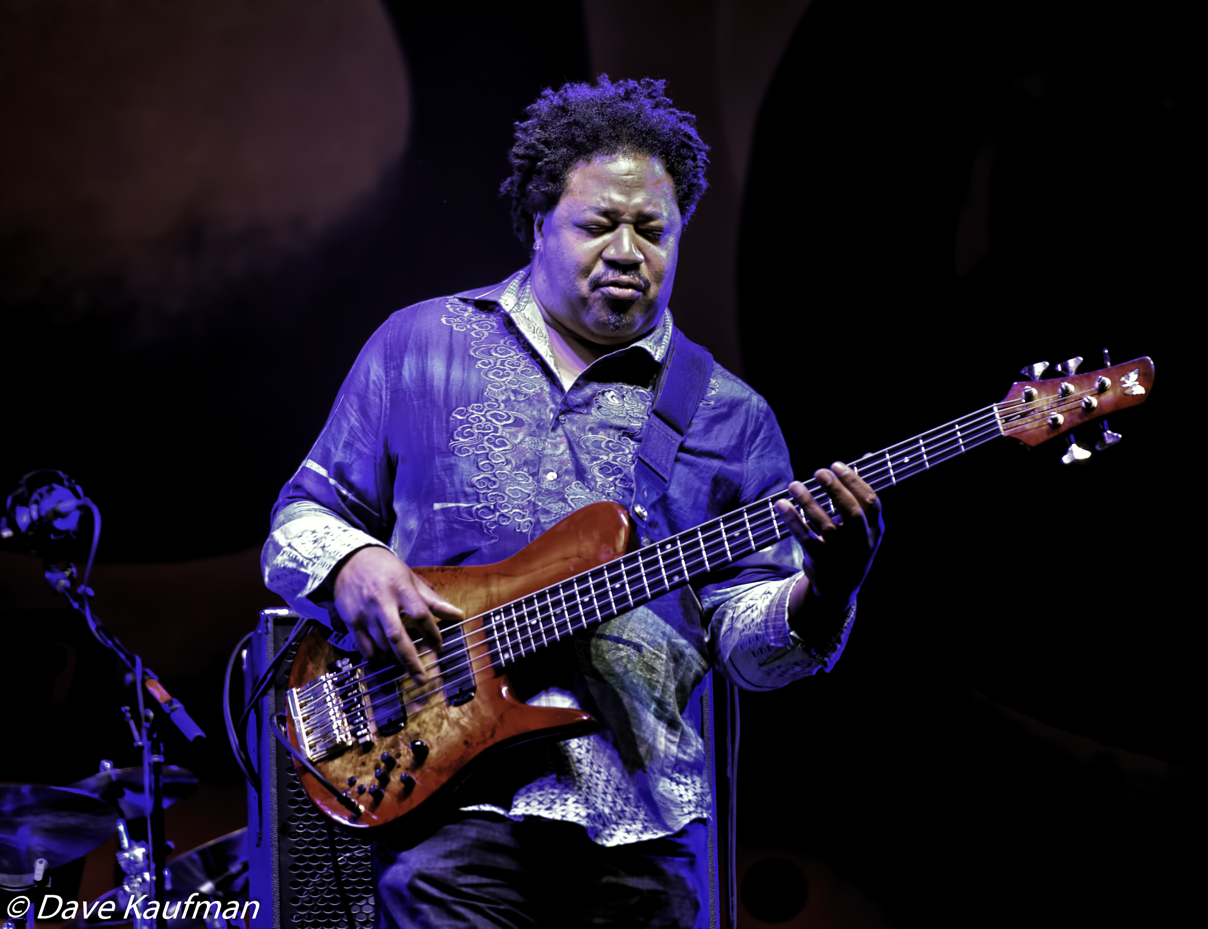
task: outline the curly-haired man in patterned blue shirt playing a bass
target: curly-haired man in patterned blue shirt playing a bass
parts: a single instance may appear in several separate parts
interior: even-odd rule
[[[599,731],[494,755],[423,829],[382,835],[379,925],[719,924],[705,675],[778,687],[829,669],[852,628],[878,498],[841,463],[814,472],[834,515],[790,483],[767,402],[674,326],[705,190],[693,123],[649,79],[529,106],[504,193],[532,263],[370,338],[281,490],[265,581],[422,680],[420,649],[466,617],[408,564],[499,562],[597,501],[629,507],[639,545],[785,486],[808,524],[782,500],[792,538],[510,667],[528,703]],[[667,378],[680,354],[704,360],[692,383]],[[651,425],[685,391],[683,435]],[[654,484],[635,477],[652,430],[674,451]]]

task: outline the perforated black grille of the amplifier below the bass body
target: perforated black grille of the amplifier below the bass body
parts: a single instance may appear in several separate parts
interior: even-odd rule
[[[278,627],[289,637],[289,627]],[[292,655],[278,684],[289,675]],[[277,689],[285,706],[285,687]],[[280,925],[303,929],[358,929],[373,925],[372,843],[331,823],[302,790],[294,763],[277,756],[277,802],[280,855]],[[352,917],[352,924],[349,923]]]

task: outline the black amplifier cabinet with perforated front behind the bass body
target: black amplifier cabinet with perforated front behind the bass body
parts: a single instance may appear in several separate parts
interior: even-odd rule
[[[300,621],[263,610],[245,655],[244,699]],[[302,790],[294,760],[269,726],[285,708],[292,650],[248,724],[260,791],[248,789],[250,896],[260,902],[249,929],[360,929],[373,925],[373,858],[367,836],[319,813]],[[250,915],[250,913],[249,913]]]

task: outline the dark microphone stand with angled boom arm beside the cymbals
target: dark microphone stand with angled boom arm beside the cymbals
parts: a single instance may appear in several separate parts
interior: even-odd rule
[[[159,737],[157,714],[146,706],[145,696],[150,695],[155,698],[173,725],[190,742],[205,738],[205,733],[190,719],[184,704],[164,690],[155,672],[143,664],[143,658],[122,645],[114,633],[97,619],[88,605],[92,591],[81,583],[79,590],[72,592],[71,579],[75,577],[75,574],[74,564],[46,562],[47,583],[56,593],[63,594],[68,603],[83,615],[97,640],[117,655],[122,663],[129,668],[126,674],[126,684],[134,687],[138,697],[138,715],[135,716],[130,712],[130,707],[122,707],[122,713],[126,715],[126,721],[134,736],[134,747],[143,749],[143,797],[146,803],[147,848],[151,853],[150,893],[147,896],[151,901],[159,901],[155,925],[162,929],[165,925],[163,908],[167,905],[163,892],[170,889],[167,869],[168,843],[163,832],[163,742]],[[145,906],[146,904],[143,907],[137,907],[135,912]],[[149,922],[139,918],[135,921],[135,925],[141,928]]]

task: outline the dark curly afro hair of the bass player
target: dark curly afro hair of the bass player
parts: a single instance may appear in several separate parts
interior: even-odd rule
[[[686,225],[708,184],[709,146],[696,133],[696,117],[676,110],[666,81],[643,77],[614,83],[602,74],[596,83],[546,88],[516,123],[507,153],[512,174],[499,192],[511,197],[512,228],[533,243],[533,217],[561,199],[567,176],[581,161],[622,152],[657,157],[675,184],[675,201]]]

